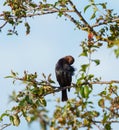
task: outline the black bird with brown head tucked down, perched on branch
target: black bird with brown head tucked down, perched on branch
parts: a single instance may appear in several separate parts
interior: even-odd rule
[[[56,79],[61,88],[71,86],[72,76],[74,74],[74,67],[71,66],[74,63],[74,58],[71,55],[65,56],[58,60],[55,66]],[[70,88],[68,88],[70,91]],[[67,90],[62,90],[62,101],[67,101]]]

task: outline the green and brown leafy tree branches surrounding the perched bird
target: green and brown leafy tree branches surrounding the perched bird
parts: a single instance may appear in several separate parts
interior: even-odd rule
[[[57,0],[54,3],[48,3],[47,0],[39,1],[39,3],[32,0],[6,0],[4,6],[9,8],[0,14],[0,20],[4,22],[0,29],[10,24],[12,27],[8,30],[8,35],[18,35],[17,27],[22,23],[28,35],[30,33],[28,18],[57,13],[59,17],[65,16],[69,19],[77,29],[86,31],[88,37],[80,44],[82,52],[79,54],[79,58],[85,58],[87,62],[81,65],[76,83],[64,88],[73,87],[75,98],[69,99],[64,106],[57,105],[52,118],[49,118],[47,114],[45,96],[62,89],[54,86],[55,82],[51,75],[47,77],[42,74],[43,80],[39,81],[36,72],[29,74],[24,71],[23,76],[19,76],[18,73],[11,71],[11,75],[6,78],[12,78],[13,84],[20,81],[25,87],[24,90],[18,93],[13,92],[10,96],[16,106],[0,116],[1,122],[5,117],[8,117],[10,121],[10,124],[6,124],[1,129],[11,124],[19,126],[21,117],[24,117],[28,123],[39,119],[43,130],[47,128],[90,130],[93,127],[111,130],[113,123],[119,123],[119,81],[101,81],[101,78],[90,73],[91,65],[99,66],[101,62],[100,59],[93,59],[92,55],[105,43],[107,43],[107,49],[113,47],[116,57],[119,57],[118,14],[107,8],[107,3],[96,3],[94,0],[89,0],[88,4],[82,8],[82,12],[78,10],[73,0]],[[88,10],[92,13],[87,20],[85,15]],[[92,21],[92,25],[89,24],[89,20]],[[103,87],[102,91],[94,96],[95,84],[103,85]],[[92,100],[95,97],[96,102]]]

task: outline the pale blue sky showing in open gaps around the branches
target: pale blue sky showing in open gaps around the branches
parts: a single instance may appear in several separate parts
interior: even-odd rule
[[[109,1],[109,6],[119,12],[117,5],[118,1]],[[2,10],[1,4],[0,10]],[[31,73],[37,72],[39,78],[41,78],[42,72],[46,75],[52,73],[52,77],[56,81],[54,68],[60,57],[70,54],[75,58],[74,66],[77,70],[81,65],[78,58],[81,51],[79,44],[86,37],[86,33],[75,30],[73,23],[69,20],[65,21],[64,18],[59,18],[57,15],[31,18],[30,24],[31,33],[28,36],[25,35],[23,26],[18,27],[18,36],[6,36],[6,29],[9,26],[6,26],[0,33],[0,114],[11,108],[12,104],[8,103],[11,92],[21,88],[19,84],[12,85],[12,80],[4,79],[11,70],[20,75],[24,70]],[[119,59],[115,58],[112,50],[107,50],[104,46],[95,53],[94,57],[101,59],[101,65],[93,66],[91,72],[96,76],[102,76],[103,80],[118,80]],[[75,81],[75,77],[73,80]],[[22,121],[18,128],[9,127],[6,130],[32,130],[39,129],[38,127],[38,123],[34,123],[29,128],[25,121]]]

